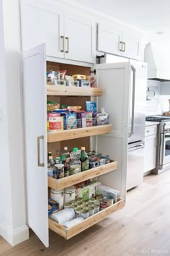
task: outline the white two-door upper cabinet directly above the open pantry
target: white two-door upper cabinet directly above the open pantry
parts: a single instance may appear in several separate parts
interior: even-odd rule
[[[94,63],[94,21],[32,0],[22,0],[21,16],[22,51],[45,43],[47,56]]]

